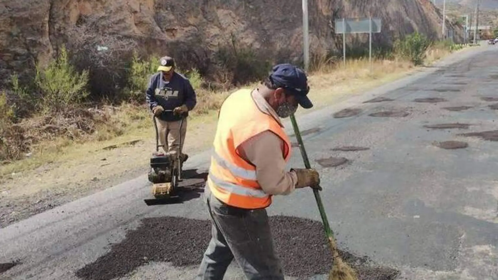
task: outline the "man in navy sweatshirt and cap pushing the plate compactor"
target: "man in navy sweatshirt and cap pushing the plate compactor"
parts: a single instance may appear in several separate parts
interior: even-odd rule
[[[164,151],[180,152],[183,162],[188,158],[188,155],[181,153],[187,132],[187,116],[197,103],[196,94],[190,81],[175,71],[173,58],[164,56],[159,61],[158,72],[149,81],[146,101],[156,118],[159,140],[164,145]]]

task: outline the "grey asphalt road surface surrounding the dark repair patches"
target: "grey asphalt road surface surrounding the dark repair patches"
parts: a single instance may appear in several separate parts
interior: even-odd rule
[[[397,279],[498,279],[498,141],[493,141],[498,137],[486,140],[461,135],[498,130],[498,111],[490,107],[498,103],[497,57],[493,46],[466,51],[437,67],[298,118],[301,130],[311,129],[303,139],[312,165],[322,175],[322,199],[341,249],[398,270]],[[364,103],[380,96],[392,101]],[[415,102],[424,98],[440,98],[436,101],[441,102]],[[444,109],[461,106],[468,108]],[[353,110],[358,114],[333,117],[347,108],[359,109]],[[397,117],[379,117],[384,111],[397,112]],[[454,123],[469,126],[424,127]],[[288,122],[286,127],[292,134]],[[449,140],[467,146],[440,147],[439,142]],[[341,146],[368,149],[333,150]],[[348,161],[336,167],[323,167],[317,161],[329,157]],[[202,173],[208,167],[207,159],[208,153],[199,154],[186,165]],[[334,160],[328,161],[320,162]],[[298,149],[294,149],[289,166],[303,166]],[[184,184],[202,185],[202,181],[195,178]],[[134,241],[126,234],[146,231],[144,224],[164,221],[148,218],[206,220],[199,195],[199,191],[191,191],[180,203],[147,206],[144,199],[150,198],[150,185],[144,175],[0,229],[0,263],[18,262],[0,274],[0,279],[85,279],[85,275],[86,279],[99,279],[97,268],[118,270],[116,259],[125,264],[121,271],[130,272],[117,274],[117,278],[192,279],[197,266],[188,262],[175,266],[175,260],[148,261],[144,256],[143,265],[126,265],[136,258],[133,252],[141,250],[141,242],[153,244],[154,234],[161,235],[168,224],[152,235],[135,232]],[[320,221],[310,190],[275,197],[268,213]],[[194,244],[198,238],[195,231],[168,234],[184,235]],[[158,245],[147,250],[162,248],[159,243],[172,239],[157,237]],[[126,242],[134,247],[113,253],[111,244]],[[201,249],[187,250],[178,258],[202,252],[204,245],[199,244],[195,246]],[[186,250],[183,247],[180,249]],[[101,258],[99,266],[92,267],[99,257],[110,254],[114,261]],[[89,265],[87,274],[81,270],[85,265]],[[93,278],[88,271],[95,273]],[[243,278],[232,266],[226,279]]]

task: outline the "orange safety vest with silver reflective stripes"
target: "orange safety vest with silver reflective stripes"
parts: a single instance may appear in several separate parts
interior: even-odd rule
[[[207,180],[216,198],[244,209],[265,208],[271,204],[271,195],[266,194],[256,180],[256,168],[237,152],[244,141],[267,130],[284,141],[282,155],[288,161],[291,154],[288,136],[272,116],[259,110],[251,90],[238,90],[224,101]]]

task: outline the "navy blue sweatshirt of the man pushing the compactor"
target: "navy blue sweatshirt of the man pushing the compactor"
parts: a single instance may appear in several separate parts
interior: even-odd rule
[[[162,72],[157,72],[150,78],[145,99],[150,110],[160,105],[164,110],[173,110],[185,104],[188,110],[197,104],[195,91],[185,76],[174,72],[169,82],[164,81]],[[188,116],[188,113],[184,116]],[[182,117],[172,112],[163,112],[159,119],[167,122],[179,121]]]

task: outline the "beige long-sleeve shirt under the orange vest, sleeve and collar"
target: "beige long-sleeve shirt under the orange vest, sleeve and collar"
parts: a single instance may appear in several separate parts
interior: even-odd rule
[[[261,112],[273,117],[283,127],[275,110],[258,90],[252,91],[251,95]],[[246,140],[238,148],[239,154],[256,167],[256,179],[267,194],[287,195],[295,189],[297,183],[296,173],[285,169],[283,145],[283,140],[276,134],[265,131]]]

